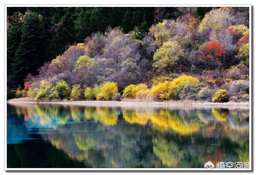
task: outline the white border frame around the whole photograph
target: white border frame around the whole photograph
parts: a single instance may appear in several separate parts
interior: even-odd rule
[[[88,5],[74,5],[74,4],[66,4],[66,5],[4,5],[4,17],[5,17],[5,28],[7,25],[7,7],[249,7],[249,83],[250,83],[250,89],[249,89],[249,162],[250,162],[250,169],[209,169],[210,171],[252,171],[252,5],[222,5],[222,4],[214,4],[214,5],[162,5],[162,4],[150,4],[150,5],[140,5],[140,4],[127,4],[127,5],[111,5],[111,4],[88,4]],[[7,29],[5,29],[4,32],[4,73],[5,73],[5,79],[4,79],[4,92],[5,92],[5,107],[4,107],[4,170],[6,171],[209,171],[208,169],[204,168],[7,168]]]

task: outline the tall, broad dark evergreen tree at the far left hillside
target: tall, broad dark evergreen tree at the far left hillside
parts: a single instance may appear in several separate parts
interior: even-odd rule
[[[35,73],[44,63],[44,27],[38,14],[26,12],[21,39],[12,63],[12,79],[22,83],[28,73]]]

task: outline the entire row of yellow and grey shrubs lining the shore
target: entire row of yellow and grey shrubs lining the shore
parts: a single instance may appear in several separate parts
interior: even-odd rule
[[[160,81],[159,81],[160,80]],[[220,80],[223,80],[220,78]],[[201,81],[202,82],[202,81]],[[209,88],[205,83],[192,76],[181,75],[174,79],[160,78],[148,88],[146,84],[128,85],[123,90],[125,98],[141,101],[155,100],[200,100],[207,102],[228,102],[249,100],[249,81],[235,80],[220,83],[221,87]],[[37,85],[27,85],[26,90],[16,90],[17,96],[34,97],[36,100],[115,100],[120,101],[116,83],[105,82],[103,85],[70,87],[63,80],[42,80]]]

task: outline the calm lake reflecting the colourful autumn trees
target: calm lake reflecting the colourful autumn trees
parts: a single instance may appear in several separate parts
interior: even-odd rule
[[[8,168],[204,168],[249,161],[248,107],[7,104]]]

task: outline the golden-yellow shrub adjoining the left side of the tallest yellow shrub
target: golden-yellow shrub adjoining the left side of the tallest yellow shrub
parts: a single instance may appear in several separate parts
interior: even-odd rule
[[[174,92],[175,87],[171,84],[170,81],[165,81],[164,83],[159,83],[156,86],[153,86],[150,90],[150,95],[158,101],[169,100],[170,92]]]

